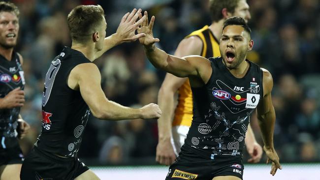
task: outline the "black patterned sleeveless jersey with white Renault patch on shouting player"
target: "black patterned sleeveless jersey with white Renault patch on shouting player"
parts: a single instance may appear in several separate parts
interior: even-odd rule
[[[210,80],[192,88],[193,120],[184,148],[208,159],[215,154],[242,154],[250,117],[263,97],[262,70],[247,60],[246,75],[236,78],[221,57],[209,60]]]

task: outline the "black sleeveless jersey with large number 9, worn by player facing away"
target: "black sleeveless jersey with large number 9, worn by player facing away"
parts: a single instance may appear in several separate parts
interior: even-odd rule
[[[69,47],[51,62],[42,94],[42,130],[35,143],[41,150],[65,157],[79,150],[90,111],[80,91],[68,87],[67,78],[81,63],[91,61]]]

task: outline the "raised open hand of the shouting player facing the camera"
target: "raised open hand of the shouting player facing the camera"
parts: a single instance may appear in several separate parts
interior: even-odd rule
[[[158,38],[154,38],[153,32],[152,32],[153,25],[154,25],[154,22],[155,22],[155,16],[151,17],[150,24],[149,24],[149,21],[148,21],[148,12],[147,11],[144,11],[144,16],[143,17],[146,17],[146,18],[143,20],[143,23],[141,24],[140,28],[138,28],[137,31],[138,31],[138,33],[144,33],[145,34],[145,36],[142,36],[141,38],[139,38],[139,42],[142,45],[148,47],[148,46],[152,46],[156,42],[159,42],[160,40]],[[141,14],[139,15],[140,20],[142,20],[143,17],[142,17]]]

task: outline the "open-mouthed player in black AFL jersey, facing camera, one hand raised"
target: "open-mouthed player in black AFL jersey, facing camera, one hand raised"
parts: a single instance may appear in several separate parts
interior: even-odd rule
[[[145,15],[147,13],[145,12]],[[254,45],[241,17],[224,22],[218,58],[168,55],[155,46],[155,17],[144,21],[139,39],[151,63],[178,77],[188,77],[193,94],[193,120],[185,144],[169,167],[166,180],[242,180],[244,136],[256,110],[270,174],[282,169],[273,146],[275,111],[271,74],[246,59]]]

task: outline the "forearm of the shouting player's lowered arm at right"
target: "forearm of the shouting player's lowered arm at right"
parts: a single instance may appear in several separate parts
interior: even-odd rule
[[[267,149],[273,149],[273,132],[276,121],[274,108],[264,115],[258,115],[259,126],[261,129],[262,140]]]

